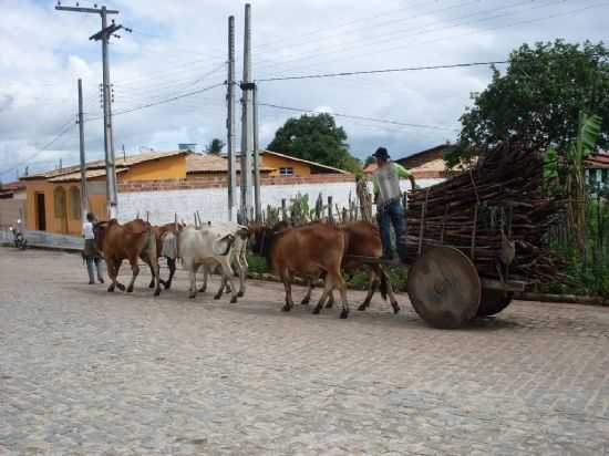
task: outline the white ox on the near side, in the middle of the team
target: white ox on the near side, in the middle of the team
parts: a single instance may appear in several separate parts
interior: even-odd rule
[[[230,283],[230,302],[237,302],[237,288],[233,281],[233,269],[230,259],[234,243],[237,236],[221,227],[203,226],[195,228],[188,226],[178,234],[178,255],[182,258],[182,266],[188,270],[190,279],[190,298],[197,296],[196,273],[202,267],[219,268],[223,276],[223,284],[215,299],[223,293],[224,283]]]

